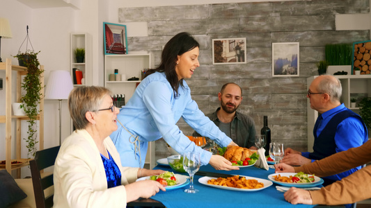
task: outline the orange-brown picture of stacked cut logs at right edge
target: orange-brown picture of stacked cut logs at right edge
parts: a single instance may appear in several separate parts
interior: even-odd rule
[[[352,74],[358,71],[359,74],[371,73],[371,40],[353,43]]]

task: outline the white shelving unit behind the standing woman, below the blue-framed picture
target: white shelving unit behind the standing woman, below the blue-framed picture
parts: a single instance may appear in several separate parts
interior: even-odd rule
[[[136,86],[141,83],[141,71],[150,69],[150,53],[131,53],[123,55],[104,55],[104,87],[111,90],[112,94],[125,94],[125,102],[133,96]],[[118,69],[122,80],[109,81],[109,75],[114,74]],[[138,81],[127,81],[136,77]],[[145,157],[145,168],[154,168],[155,160],[155,141],[148,145],[147,156]]]

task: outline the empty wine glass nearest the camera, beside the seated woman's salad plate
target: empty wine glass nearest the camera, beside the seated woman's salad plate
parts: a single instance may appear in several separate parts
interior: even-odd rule
[[[196,193],[197,189],[194,188],[194,173],[200,169],[200,153],[187,152],[183,154],[183,168],[189,174],[189,189],[185,189],[186,193]]]

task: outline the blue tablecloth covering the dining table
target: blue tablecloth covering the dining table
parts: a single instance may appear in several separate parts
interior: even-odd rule
[[[173,171],[169,166],[156,166],[155,169],[164,171]],[[274,173],[274,169],[269,168],[269,171],[256,168],[254,166],[240,168],[239,171],[216,171],[212,166],[201,166],[200,171],[208,171],[214,173],[226,173],[236,175],[247,175],[251,177],[259,177],[268,179],[268,175]],[[185,173],[184,175],[187,175]],[[174,189],[171,191],[159,191],[151,198],[162,202],[168,208],[175,207],[241,207],[241,205],[248,207],[314,207],[315,205],[292,205],[283,198],[283,192],[276,190],[276,184],[271,185],[267,189],[260,191],[229,191],[225,189],[216,189],[207,187],[198,182],[202,177],[195,175],[194,187],[200,191],[198,193],[184,193],[184,189]]]

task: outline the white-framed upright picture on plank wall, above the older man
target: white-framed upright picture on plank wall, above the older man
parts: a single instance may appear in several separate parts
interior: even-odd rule
[[[272,76],[299,76],[299,42],[272,43]]]

